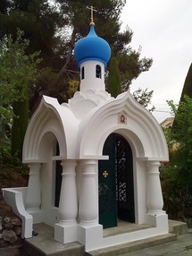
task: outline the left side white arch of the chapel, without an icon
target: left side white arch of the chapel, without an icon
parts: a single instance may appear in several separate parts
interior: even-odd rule
[[[76,143],[77,130],[78,121],[71,110],[60,105],[57,99],[44,96],[25,134],[23,162],[45,161],[46,145],[53,134],[59,143],[60,156],[76,158],[76,149],[71,145]],[[46,140],[43,140],[45,134]]]

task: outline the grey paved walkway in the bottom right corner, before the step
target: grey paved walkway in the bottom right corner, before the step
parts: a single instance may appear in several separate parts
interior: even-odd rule
[[[163,243],[135,252],[127,252],[120,256],[192,256],[192,228],[188,232],[179,235],[177,241]]]

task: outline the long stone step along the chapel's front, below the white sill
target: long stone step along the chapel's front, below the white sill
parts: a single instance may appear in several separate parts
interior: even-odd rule
[[[98,249],[92,252],[86,252],[86,256],[116,256],[121,255],[126,252],[134,252],[147,247],[152,247],[154,245],[159,245],[162,243],[169,243],[171,241],[177,240],[177,235],[166,234],[166,235],[156,235],[151,238],[141,239],[135,242],[123,243],[103,249]]]

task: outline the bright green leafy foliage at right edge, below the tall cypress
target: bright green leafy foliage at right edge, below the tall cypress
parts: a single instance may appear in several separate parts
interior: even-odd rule
[[[170,140],[175,145],[171,166],[177,168],[179,179],[187,190],[192,189],[192,98],[184,95],[179,107],[172,101],[168,101],[168,104],[172,113],[177,115],[177,124],[170,133]]]

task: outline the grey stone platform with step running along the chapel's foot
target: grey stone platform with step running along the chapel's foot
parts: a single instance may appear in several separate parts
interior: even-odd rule
[[[139,226],[146,228],[147,226]],[[93,252],[85,252],[85,246],[79,242],[59,243],[54,240],[54,228],[44,223],[35,224],[34,231],[38,235],[25,239],[21,249],[22,256],[115,256],[126,252],[134,252],[154,245],[168,243],[177,240],[177,236],[187,232],[187,224],[175,220],[169,220],[170,234],[157,235],[151,238],[142,239],[131,243],[123,243],[99,249]],[[135,230],[134,226],[129,226],[130,230]],[[122,229],[120,225],[120,229]],[[113,228],[112,228],[113,230]],[[130,231],[129,230],[129,231]],[[124,231],[124,230],[121,230]],[[120,232],[120,231],[119,231]],[[116,234],[116,233],[115,233]],[[108,235],[114,235],[108,234]],[[106,235],[107,236],[107,235]]]

